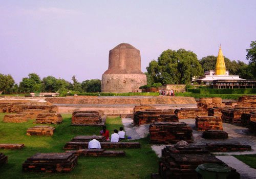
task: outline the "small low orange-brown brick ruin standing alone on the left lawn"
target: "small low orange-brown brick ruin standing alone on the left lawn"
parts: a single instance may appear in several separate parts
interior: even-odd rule
[[[38,125],[27,129],[27,136],[52,136],[55,127]]]

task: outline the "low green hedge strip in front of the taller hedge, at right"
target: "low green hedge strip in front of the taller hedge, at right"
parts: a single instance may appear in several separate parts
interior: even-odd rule
[[[247,94],[255,95],[255,94]],[[175,96],[185,96],[185,97],[194,97],[194,98],[211,98],[211,97],[221,97],[222,99],[238,99],[244,94],[193,94],[193,93],[176,93]]]

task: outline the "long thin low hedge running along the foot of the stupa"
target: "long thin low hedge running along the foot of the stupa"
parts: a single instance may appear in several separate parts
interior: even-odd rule
[[[68,96],[74,96],[69,93]],[[77,93],[78,96],[158,96],[159,93]]]

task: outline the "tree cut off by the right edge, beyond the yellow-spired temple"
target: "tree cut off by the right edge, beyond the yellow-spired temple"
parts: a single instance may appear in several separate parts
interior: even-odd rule
[[[249,60],[249,69],[253,75],[253,79],[256,79],[256,40],[251,41],[250,49],[246,49],[246,59]]]

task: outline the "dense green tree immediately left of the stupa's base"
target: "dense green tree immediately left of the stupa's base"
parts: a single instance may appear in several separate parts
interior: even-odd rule
[[[99,79],[91,79],[83,81],[82,84],[83,92],[87,93],[96,93],[101,92],[101,80]]]

